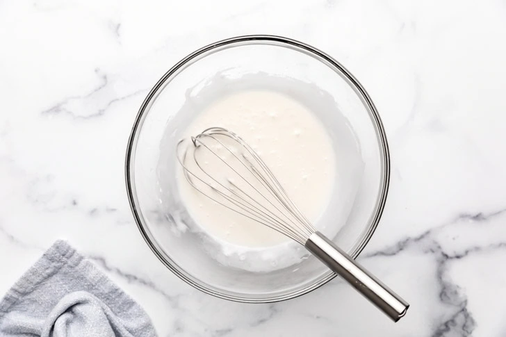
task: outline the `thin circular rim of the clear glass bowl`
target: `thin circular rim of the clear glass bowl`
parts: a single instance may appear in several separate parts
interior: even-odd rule
[[[167,261],[167,259],[161,254],[161,252],[156,247],[157,246],[156,240],[154,240],[154,238],[152,237],[152,234],[149,232],[149,229],[145,228],[145,225],[142,223],[142,216],[138,212],[137,207],[138,200],[136,197],[135,183],[133,183],[133,168],[131,169],[131,165],[133,164],[132,161],[133,150],[136,149],[136,136],[140,131],[140,126],[142,126],[142,121],[144,120],[147,108],[149,108],[152,99],[154,99],[157,96],[158,90],[163,86],[165,81],[168,81],[172,79],[174,76],[177,76],[177,74],[181,72],[186,66],[199,60],[200,58],[205,57],[208,53],[220,51],[222,49],[227,49],[229,47],[237,47],[245,44],[271,44],[278,47],[288,47],[295,51],[300,51],[304,54],[307,54],[308,56],[312,56],[317,60],[320,60],[320,62],[325,63],[327,66],[333,69],[334,72],[336,72],[339,76],[345,79],[345,81],[348,82],[348,85],[350,85],[350,87],[352,87],[354,92],[359,96],[362,103],[366,106],[366,108],[368,108],[371,121],[373,122],[373,126],[375,127],[375,131],[377,133],[377,139],[379,141],[379,150],[382,156],[384,172],[381,181],[382,188],[377,196],[375,212],[373,212],[373,215],[370,217],[369,220],[370,225],[368,226],[366,231],[362,233],[361,240],[357,245],[357,247],[354,249],[354,252],[350,254],[352,258],[357,258],[357,256],[359,256],[364,247],[366,247],[370,238],[373,236],[375,229],[377,228],[377,225],[384,210],[386,197],[389,191],[390,155],[389,155],[389,145],[386,140],[386,133],[384,130],[384,126],[382,124],[381,118],[379,117],[379,113],[377,112],[377,108],[375,107],[375,104],[373,103],[372,99],[370,99],[369,94],[366,92],[361,83],[359,83],[359,81],[355,79],[355,77],[348,71],[348,69],[343,67],[341,63],[338,63],[337,60],[335,60],[328,54],[325,54],[323,51],[320,51],[319,49],[316,49],[315,47],[312,47],[309,44],[293,40],[291,38],[284,38],[279,35],[241,35],[234,38],[228,38],[225,40],[220,40],[218,42],[208,44],[200,49],[197,49],[196,51],[193,51],[193,53],[181,59],[178,63],[176,63],[173,67],[171,67],[168,70],[168,72],[166,72],[161,77],[161,79],[158,80],[158,82],[154,85],[154,87],[149,91],[147,97],[142,102],[142,105],[140,106],[138,114],[136,116],[136,120],[133,123],[128,144],[126,147],[126,156],[125,156],[126,194],[129,199],[129,204],[131,211],[133,213],[133,218],[136,221],[137,227],[142,235],[142,238],[144,238],[149,248],[152,250],[155,256],[158,257],[158,259],[163,263],[163,265],[165,265],[165,267],[167,267],[174,274],[176,274],[177,277],[179,277],[186,283],[190,284],[190,286],[193,286],[194,288],[197,288],[198,290],[201,290],[204,293],[222,299],[229,299],[231,301],[245,302],[245,303],[272,303],[284,301],[286,299],[292,299],[310,293],[316,288],[319,288],[320,286],[323,286],[323,284],[334,279],[334,277],[336,277],[337,275],[329,270],[327,274],[325,274],[323,277],[320,277],[320,279],[316,279],[316,281],[311,283],[309,286],[305,286],[304,288],[292,291],[291,293],[271,297],[269,296],[246,297],[246,296],[230,295],[227,293],[222,293],[220,292],[220,290],[213,290],[207,283],[205,283],[205,285],[202,284],[204,282],[199,283],[199,280],[195,280],[195,278],[191,277],[189,274],[186,274],[186,272],[182,270],[183,268],[179,270],[179,268],[177,268],[176,266],[177,265],[176,263],[172,264],[170,263],[170,261]]]

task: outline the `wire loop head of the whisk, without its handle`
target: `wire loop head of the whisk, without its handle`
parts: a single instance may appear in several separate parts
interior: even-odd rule
[[[220,127],[177,143],[188,183],[214,202],[304,245],[316,231],[260,156]]]

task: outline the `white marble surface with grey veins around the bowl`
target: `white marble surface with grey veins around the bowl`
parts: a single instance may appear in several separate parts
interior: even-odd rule
[[[145,245],[124,150],[149,88],[233,35],[313,44],[364,84],[393,164],[360,260],[411,303],[397,324],[341,281],[226,302]],[[57,238],[92,258],[160,336],[506,336],[506,2],[0,1],[0,293]]]

